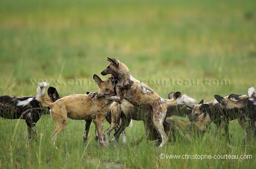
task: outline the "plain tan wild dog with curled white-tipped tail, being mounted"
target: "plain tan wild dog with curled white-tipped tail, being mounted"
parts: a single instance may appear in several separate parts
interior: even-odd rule
[[[116,95],[114,90],[115,81],[111,77],[102,81],[102,79],[95,74],[93,79],[100,88],[100,93],[110,96]],[[76,94],[62,97],[56,102],[50,103],[47,102],[44,97],[44,89],[48,85],[48,83],[40,83],[38,85],[37,98],[42,104],[51,107],[50,113],[55,121],[55,130],[51,136],[53,144],[55,145],[57,136],[66,128],[67,118],[71,118],[73,120],[94,119],[93,122],[95,123],[100,138],[99,142],[105,146],[103,121],[106,118],[108,106],[112,101],[106,100],[102,97],[90,98],[87,94]]]

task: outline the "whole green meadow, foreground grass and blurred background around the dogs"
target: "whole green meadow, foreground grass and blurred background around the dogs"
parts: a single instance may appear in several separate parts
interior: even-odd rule
[[[42,79],[61,97],[96,91],[92,76],[105,69],[107,57],[121,60],[163,98],[171,91],[205,102],[215,94],[247,94],[256,87],[255,9],[254,0],[1,0],[0,95],[35,96]],[[52,117],[43,115],[38,141],[29,147],[26,123],[0,118],[0,168],[256,166],[256,141],[244,144],[237,120],[229,125],[230,144],[215,136],[212,125],[204,137],[163,148],[145,140],[131,145],[144,134],[141,121],[126,129],[127,144],[105,148],[94,140],[93,123],[84,143],[84,121],[69,120],[55,149],[49,139],[54,126]],[[161,159],[160,154],[253,159]]]

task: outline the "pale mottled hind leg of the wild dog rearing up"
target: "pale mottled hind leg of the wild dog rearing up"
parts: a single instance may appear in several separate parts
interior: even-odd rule
[[[164,126],[163,126],[165,116],[166,116],[166,111],[164,111],[158,106],[153,107],[152,122],[153,122],[154,128],[159,132],[162,139],[162,142],[159,147],[163,147],[169,140],[166,133],[164,132]]]

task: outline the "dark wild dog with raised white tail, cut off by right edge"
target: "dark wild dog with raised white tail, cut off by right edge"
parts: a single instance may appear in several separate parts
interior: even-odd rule
[[[218,96],[218,102],[225,112],[231,111],[235,114],[235,118],[246,132],[247,139],[251,137],[251,132],[256,137],[256,91],[253,87],[249,88],[248,95],[249,97],[231,94],[228,98]]]

